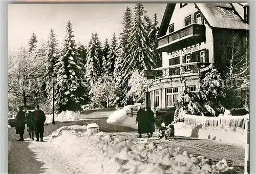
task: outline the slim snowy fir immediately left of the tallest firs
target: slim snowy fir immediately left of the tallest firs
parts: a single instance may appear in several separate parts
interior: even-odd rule
[[[107,56],[108,62],[106,64],[106,73],[109,74],[109,76],[113,76],[114,68],[115,68],[115,60],[117,59],[117,39],[115,33],[112,36],[111,39],[111,45],[110,50]]]

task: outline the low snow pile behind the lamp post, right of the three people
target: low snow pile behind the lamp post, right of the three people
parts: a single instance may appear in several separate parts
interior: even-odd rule
[[[55,121],[74,121],[80,116],[79,113],[75,113],[73,111],[62,111],[60,114],[54,115]],[[45,123],[51,123],[52,122],[52,114],[46,115],[46,122]]]

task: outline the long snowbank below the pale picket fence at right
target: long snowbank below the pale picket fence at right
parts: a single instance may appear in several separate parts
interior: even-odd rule
[[[176,123],[174,124],[174,128],[175,136],[210,139],[240,145],[246,144],[246,131],[242,128],[228,126],[195,126],[187,123]]]

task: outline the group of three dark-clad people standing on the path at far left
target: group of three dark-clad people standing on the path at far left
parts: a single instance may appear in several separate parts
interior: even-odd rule
[[[24,130],[25,120],[27,121],[27,130],[29,132],[30,139],[34,140],[34,133],[36,136],[36,141],[44,141],[44,123],[46,121],[46,116],[43,111],[39,109],[39,105],[36,105],[36,110],[28,112],[26,117],[25,112],[22,110],[22,107],[18,107],[18,113],[16,116],[16,134],[19,134],[20,139],[18,141],[24,141]]]

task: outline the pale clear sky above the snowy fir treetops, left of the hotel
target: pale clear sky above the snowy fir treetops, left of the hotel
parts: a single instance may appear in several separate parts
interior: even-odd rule
[[[66,32],[68,20],[73,25],[75,40],[87,45],[92,33],[98,32],[101,42],[111,40],[113,33],[119,36],[124,10],[135,4],[9,4],[8,49],[28,47],[28,40],[35,32],[38,41],[47,40],[50,29],[57,34],[59,44]],[[143,4],[153,19],[158,15],[159,26],[166,4]]]

